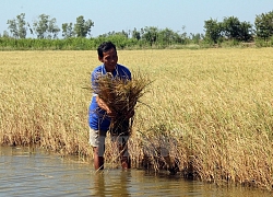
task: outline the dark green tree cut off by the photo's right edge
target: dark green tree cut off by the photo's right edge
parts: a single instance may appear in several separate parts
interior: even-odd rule
[[[273,36],[273,11],[256,16],[256,34],[264,40]]]

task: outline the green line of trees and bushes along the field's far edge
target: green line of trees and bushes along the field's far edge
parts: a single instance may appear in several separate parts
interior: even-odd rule
[[[187,34],[174,32],[170,28],[145,26],[143,28],[108,32],[92,37],[94,27],[92,20],[83,15],[75,19],[75,23],[63,23],[61,28],[57,20],[47,14],[40,14],[32,24],[25,21],[25,13],[8,20],[8,31],[0,35],[2,48],[56,48],[56,49],[93,49],[96,44],[111,39],[119,48],[126,47],[159,47],[180,46],[187,44],[221,45],[223,43],[254,42],[261,46],[273,46],[273,11],[256,16],[254,24],[241,22],[236,16],[224,18],[223,21],[210,19],[204,21],[204,34]],[[182,27],[185,31],[185,26]],[[33,37],[27,38],[27,33]],[[61,38],[58,36],[61,33]]]

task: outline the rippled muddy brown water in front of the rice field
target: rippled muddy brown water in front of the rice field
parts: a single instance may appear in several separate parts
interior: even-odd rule
[[[38,150],[0,147],[0,196],[271,196],[241,187],[216,187],[166,172],[105,170]]]

